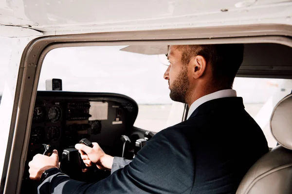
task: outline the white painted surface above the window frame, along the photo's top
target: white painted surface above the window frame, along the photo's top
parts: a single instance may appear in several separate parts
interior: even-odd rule
[[[292,25],[291,0],[0,1],[0,25],[58,34],[271,23]]]

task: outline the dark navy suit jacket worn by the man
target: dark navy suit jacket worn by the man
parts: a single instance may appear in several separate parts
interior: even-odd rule
[[[205,102],[190,118],[157,133],[124,168],[96,183],[61,171],[40,194],[234,194],[247,170],[268,152],[241,97]]]

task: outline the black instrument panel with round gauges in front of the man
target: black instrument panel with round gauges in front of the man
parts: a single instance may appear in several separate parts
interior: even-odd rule
[[[137,114],[137,103],[120,94],[38,91],[21,193],[37,192],[38,183],[29,179],[28,162],[44,152],[43,144],[57,149],[61,158],[64,149],[87,138],[107,154],[121,156],[120,138],[131,133]],[[96,181],[109,173],[95,169],[83,180]]]

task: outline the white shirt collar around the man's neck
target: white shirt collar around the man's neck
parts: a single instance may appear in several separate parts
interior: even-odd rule
[[[236,91],[232,89],[227,89],[227,90],[219,90],[217,92],[208,94],[206,96],[198,98],[196,101],[193,102],[193,104],[190,106],[189,111],[187,113],[187,118],[188,119],[191,114],[203,103],[209,101],[209,100],[214,100],[217,98],[222,98],[222,97],[237,97]]]

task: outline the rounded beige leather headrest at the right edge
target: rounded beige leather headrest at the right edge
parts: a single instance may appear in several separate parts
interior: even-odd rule
[[[270,125],[277,142],[292,149],[292,94],[284,97],[275,106]]]

